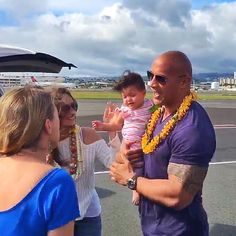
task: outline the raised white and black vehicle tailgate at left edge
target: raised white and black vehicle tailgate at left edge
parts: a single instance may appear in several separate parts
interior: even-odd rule
[[[75,65],[46,53],[0,45],[0,72],[59,73],[63,67],[76,68]]]

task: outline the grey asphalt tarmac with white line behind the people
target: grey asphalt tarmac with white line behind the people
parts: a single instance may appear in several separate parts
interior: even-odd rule
[[[236,236],[236,101],[201,102],[215,126],[217,149],[203,187],[211,236]],[[101,119],[106,101],[79,101],[78,121]],[[118,103],[119,105],[119,103]],[[106,139],[106,134],[101,133]],[[102,204],[103,236],[141,236],[131,191],[113,183],[96,163],[96,188]]]

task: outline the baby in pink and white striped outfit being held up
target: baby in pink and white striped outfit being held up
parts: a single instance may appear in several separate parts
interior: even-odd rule
[[[122,133],[122,143],[132,143],[131,148],[141,148],[141,139],[145,131],[146,124],[151,117],[151,107],[153,103],[145,99],[146,87],[141,75],[125,71],[121,79],[114,86],[114,90],[121,93],[123,104],[116,109],[118,113],[115,120],[109,123],[93,121],[92,126],[96,130],[120,131]],[[137,168],[135,172],[138,176],[143,175],[143,169]],[[139,194],[134,190],[132,203],[139,204]]]

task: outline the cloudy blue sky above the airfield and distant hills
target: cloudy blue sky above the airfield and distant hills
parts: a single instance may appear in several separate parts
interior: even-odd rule
[[[144,75],[169,50],[194,73],[233,73],[235,12],[229,0],[0,0],[0,44],[73,63],[71,76]]]

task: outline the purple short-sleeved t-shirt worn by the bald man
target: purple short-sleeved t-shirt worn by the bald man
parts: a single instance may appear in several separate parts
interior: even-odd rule
[[[157,135],[170,117],[158,121]],[[151,154],[145,155],[148,179],[167,179],[170,162],[208,167],[215,152],[216,139],[212,123],[200,104],[193,102],[186,116],[177,123],[170,135]],[[145,236],[205,236],[208,222],[202,206],[201,192],[192,203],[177,211],[141,197],[139,206]]]

